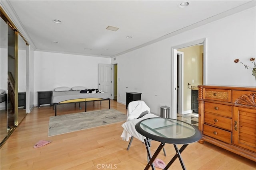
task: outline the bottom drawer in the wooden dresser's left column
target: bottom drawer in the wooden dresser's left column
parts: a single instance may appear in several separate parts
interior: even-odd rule
[[[219,129],[217,127],[212,127],[206,124],[203,125],[203,134],[230,144],[232,141],[231,132]]]

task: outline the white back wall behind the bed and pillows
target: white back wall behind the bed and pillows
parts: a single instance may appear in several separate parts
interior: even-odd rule
[[[98,64],[110,64],[110,58],[34,52],[34,105],[37,91],[56,87],[98,88]]]

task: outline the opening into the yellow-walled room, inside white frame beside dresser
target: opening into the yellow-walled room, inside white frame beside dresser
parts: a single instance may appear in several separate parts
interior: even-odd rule
[[[177,49],[177,113],[198,114],[198,85],[203,84],[204,45],[197,44]],[[197,103],[197,104],[196,104]],[[197,108],[194,108],[197,107]]]

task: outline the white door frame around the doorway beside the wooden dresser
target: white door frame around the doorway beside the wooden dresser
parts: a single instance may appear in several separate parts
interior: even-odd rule
[[[195,41],[191,41],[188,43],[184,43],[181,45],[176,45],[171,47],[171,104],[172,109],[170,109],[170,115],[171,118],[176,119],[177,118],[177,49],[190,47],[193,45],[203,44],[204,45],[204,62],[203,62],[203,84],[207,84],[206,81],[206,60],[207,60],[207,54],[206,54],[206,38],[198,39]],[[180,96],[179,96],[180,97]]]

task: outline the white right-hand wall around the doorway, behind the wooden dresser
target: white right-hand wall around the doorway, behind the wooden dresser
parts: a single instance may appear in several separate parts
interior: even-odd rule
[[[228,16],[112,59],[118,63],[118,102],[126,92],[141,92],[151,111],[171,106],[171,47],[206,38],[206,84],[255,86],[252,70],[234,59],[251,64],[256,57],[256,8]],[[127,87],[127,88],[126,88]],[[120,95],[120,96],[119,96]]]

